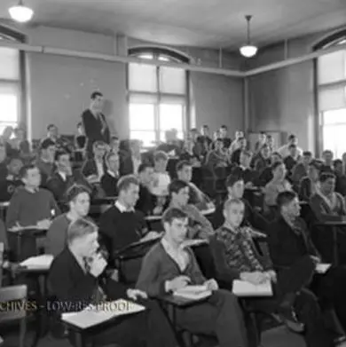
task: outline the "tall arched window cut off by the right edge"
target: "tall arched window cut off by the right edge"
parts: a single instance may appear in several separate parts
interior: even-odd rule
[[[324,50],[346,43],[346,30],[317,43]],[[346,152],[346,49],[322,55],[317,61],[318,111],[323,150],[330,149],[341,158]]]

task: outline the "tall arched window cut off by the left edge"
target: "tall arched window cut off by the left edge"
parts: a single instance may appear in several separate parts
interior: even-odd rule
[[[0,25],[0,41],[25,42],[25,35]],[[24,52],[0,46],[0,134],[24,120]]]

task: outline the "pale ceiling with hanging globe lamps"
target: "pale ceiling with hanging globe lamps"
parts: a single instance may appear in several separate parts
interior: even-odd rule
[[[18,0],[0,1],[0,18]],[[258,45],[346,24],[346,0],[24,0],[34,24],[122,33],[157,43],[232,49],[246,40],[253,14]]]

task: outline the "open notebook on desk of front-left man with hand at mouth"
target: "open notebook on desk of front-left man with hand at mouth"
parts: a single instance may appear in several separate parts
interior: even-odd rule
[[[142,311],[145,311],[145,306],[119,299],[112,302],[105,302],[98,306],[87,307],[81,312],[63,313],[62,320],[75,327],[87,329],[88,327],[94,327],[115,317]]]

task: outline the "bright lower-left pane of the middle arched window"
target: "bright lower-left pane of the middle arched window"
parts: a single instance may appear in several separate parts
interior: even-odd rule
[[[153,104],[130,104],[130,130],[154,130]]]

